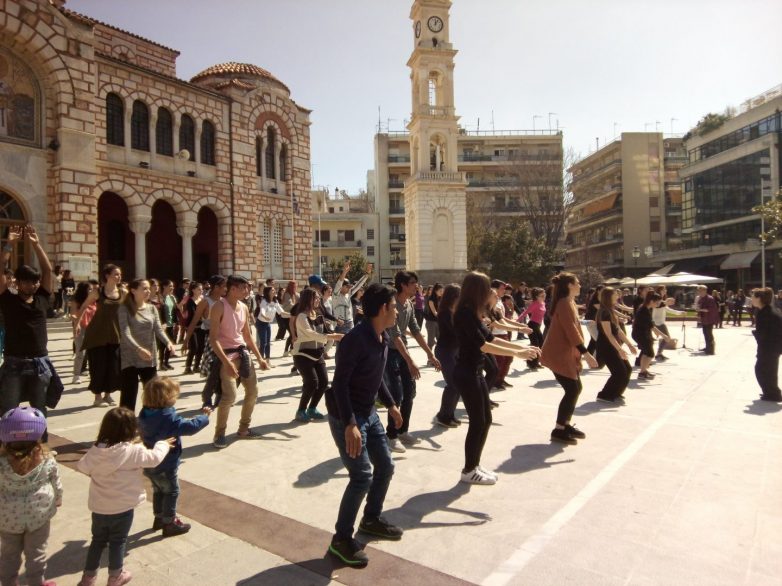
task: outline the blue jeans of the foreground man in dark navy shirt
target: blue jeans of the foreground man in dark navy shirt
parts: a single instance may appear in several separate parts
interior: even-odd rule
[[[329,415],[331,435],[350,476],[348,486],[342,495],[342,502],[339,504],[336,524],[336,538],[339,540],[353,538],[353,525],[364,497],[367,499],[364,516],[368,518],[380,516],[388,485],[394,475],[394,461],[391,459],[391,452],[388,451],[386,432],[377,412],[373,411],[369,417],[357,416],[356,424],[361,432],[361,453],[358,457],[351,458],[346,450],[345,426],[342,421]]]

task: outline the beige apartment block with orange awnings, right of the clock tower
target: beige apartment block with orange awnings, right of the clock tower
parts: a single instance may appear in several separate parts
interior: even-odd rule
[[[620,277],[660,267],[661,254],[681,248],[686,161],[681,138],[625,132],[574,164],[565,267]]]

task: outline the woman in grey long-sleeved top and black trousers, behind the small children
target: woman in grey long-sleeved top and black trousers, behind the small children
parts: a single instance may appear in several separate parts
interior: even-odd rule
[[[174,344],[163,331],[157,309],[148,303],[149,281],[135,279],[129,289],[117,311],[122,364],[119,404],[135,411],[139,380],[144,385],[157,376],[155,339],[169,352],[173,352]]]

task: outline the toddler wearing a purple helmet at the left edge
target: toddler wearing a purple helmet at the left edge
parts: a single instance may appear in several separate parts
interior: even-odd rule
[[[41,443],[46,418],[38,409],[16,407],[0,420],[0,584],[15,586],[25,556],[27,583],[44,580],[49,522],[62,504],[57,462]]]

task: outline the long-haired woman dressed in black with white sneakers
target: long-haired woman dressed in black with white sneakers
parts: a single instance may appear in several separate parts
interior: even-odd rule
[[[495,338],[483,323],[491,295],[491,282],[483,273],[468,273],[462,282],[453,316],[453,327],[459,344],[453,381],[462,397],[470,423],[464,442],[464,468],[461,481],[470,484],[494,484],[497,476],[481,468],[481,453],[491,427],[489,388],[483,378],[484,353],[497,356],[534,358],[537,348],[521,348]]]

